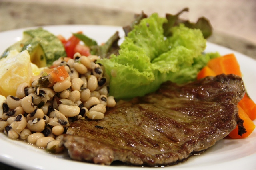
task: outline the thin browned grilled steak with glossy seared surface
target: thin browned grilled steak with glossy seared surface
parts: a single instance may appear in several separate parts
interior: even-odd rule
[[[237,104],[244,92],[242,79],[234,75],[183,86],[166,82],[155,93],[119,102],[102,120],[70,123],[61,143],[79,161],[173,164],[211,147],[242,124]]]

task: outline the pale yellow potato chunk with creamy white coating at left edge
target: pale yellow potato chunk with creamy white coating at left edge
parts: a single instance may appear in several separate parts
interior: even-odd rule
[[[28,51],[10,51],[6,58],[0,60],[0,95],[16,96],[21,83],[30,84],[32,68]]]

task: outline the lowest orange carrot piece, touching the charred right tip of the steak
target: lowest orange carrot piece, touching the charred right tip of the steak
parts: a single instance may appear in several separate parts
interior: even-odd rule
[[[230,132],[229,136],[234,139],[246,138],[255,129],[255,125],[253,121],[249,118],[249,116],[246,114],[244,109],[242,109],[242,107],[239,105],[237,107],[239,117],[244,120],[244,127],[246,129],[246,133],[244,133],[242,136],[238,135],[238,126],[236,126],[236,128],[232,132]]]

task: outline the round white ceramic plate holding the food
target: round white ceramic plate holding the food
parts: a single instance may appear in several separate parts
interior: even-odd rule
[[[83,31],[84,34],[92,37],[98,43],[105,42],[117,30],[120,37],[124,37],[121,27],[111,26],[95,26],[95,25],[59,25],[47,26],[44,29],[49,30],[55,35],[61,34],[68,38],[71,33]],[[0,33],[0,53],[8,46],[22,38],[24,29],[5,31]],[[232,51],[225,47],[207,43],[207,52],[218,51],[221,55],[235,53],[240,63],[245,82],[246,90],[251,98],[256,101],[256,60],[247,57],[236,51]],[[256,121],[254,121],[256,123]],[[199,156],[192,156],[186,162],[175,166],[165,167],[170,170],[255,170],[256,169],[256,131],[254,131],[246,139],[223,139],[218,141],[216,145],[209,148]],[[0,162],[15,166],[26,170],[76,170],[94,169],[94,170],[136,170],[141,167],[133,166],[101,166],[84,162],[76,162],[69,160],[66,155],[48,154],[45,150],[37,149],[33,145],[11,140],[3,133],[0,133]],[[146,168],[143,169],[150,169]]]

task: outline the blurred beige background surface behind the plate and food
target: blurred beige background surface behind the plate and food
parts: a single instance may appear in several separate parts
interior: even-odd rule
[[[209,41],[256,56],[256,0],[0,0],[0,31],[63,24],[128,25],[135,13],[208,18]]]

